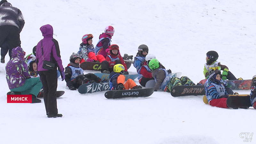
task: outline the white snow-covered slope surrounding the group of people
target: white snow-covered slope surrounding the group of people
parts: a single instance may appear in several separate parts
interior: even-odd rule
[[[247,0],[11,1],[24,15],[20,34],[25,52],[42,39],[39,28],[51,24],[63,66],[78,51],[81,37],[93,34],[93,44],[108,25],[115,28],[112,44],[121,54],[136,55],[140,44],[173,72],[195,83],[204,79],[206,52],[219,53],[218,61],[238,78],[255,75],[255,7]],[[5,61],[8,61],[6,56]],[[129,73],[135,74],[131,67]],[[89,72],[89,71],[87,71]],[[223,109],[203,103],[203,96],[174,98],[154,92],[148,98],[108,100],[104,92],[79,94],[58,80],[62,118],[47,118],[44,103],[6,103],[9,91],[5,64],[0,64],[0,143],[109,143],[109,144],[241,144],[241,132],[254,132],[247,123],[255,109]],[[136,83],[138,81],[136,80]],[[249,94],[250,91],[237,91]],[[42,99],[43,101],[43,99]],[[241,122],[245,122],[241,124]],[[255,138],[252,137],[252,142]]]

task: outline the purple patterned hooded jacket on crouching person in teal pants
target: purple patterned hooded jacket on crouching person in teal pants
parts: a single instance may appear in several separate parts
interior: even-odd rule
[[[12,49],[12,59],[7,62],[5,67],[9,89],[23,86],[26,78],[30,78],[24,56],[25,53],[21,47]]]

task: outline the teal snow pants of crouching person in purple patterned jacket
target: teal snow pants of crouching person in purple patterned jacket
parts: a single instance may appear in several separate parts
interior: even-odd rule
[[[16,87],[14,89],[10,89],[11,92],[21,92],[21,94],[33,94],[35,96],[38,95],[41,90],[43,84],[40,81],[39,77],[28,78],[24,85],[20,87]]]

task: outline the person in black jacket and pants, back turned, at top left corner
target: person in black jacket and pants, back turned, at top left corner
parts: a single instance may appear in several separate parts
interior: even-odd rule
[[[13,7],[6,0],[0,2],[0,17],[0,46],[1,49],[9,48],[9,56],[11,58],[12,49],[20,46],[20,32],[24,27],[25,20],[20,9]],[[4,45],[2,46],[2,44],[5,41],[10,46],[3,47]],[[2,63],[4,63],[4,57],[7,51],[1,51]]]

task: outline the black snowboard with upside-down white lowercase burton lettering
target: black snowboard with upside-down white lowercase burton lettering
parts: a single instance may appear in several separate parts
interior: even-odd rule
[[[154,88],[132,89],[132,90],[113,90],[105,92],[107,99],[148,97],[154,92]]]

